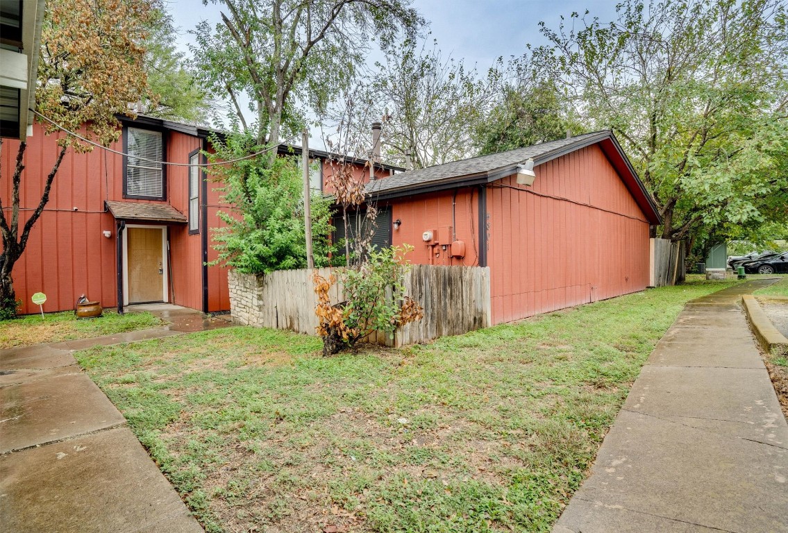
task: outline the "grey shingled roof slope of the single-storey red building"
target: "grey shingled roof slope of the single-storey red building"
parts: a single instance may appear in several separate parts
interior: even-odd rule
[[[444,165],[418,168],[401,174],[395,174],[381,180],[370,182],[366,186],[367,193],[381,194],[402,188],[418,188],[431,183],[452,181],[462,176],[491,174],[507,168],[513,168],[527,159],[533,159],[538,165],[541,159],[550,158],[551,154],[561,153],[573,146],[587,146],[590,143],[605,139],[611,135],[610,131],[597,131],[586,133],[569,139],[559,139],[549,143],[540,143],[526,148],[518,148],[500,154],[490,154],[471,157],[461,161],[452,161]],[[501,176],[503,177],[503,176]]]

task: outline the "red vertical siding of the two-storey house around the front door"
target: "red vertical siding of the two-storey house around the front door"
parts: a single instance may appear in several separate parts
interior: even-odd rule
[[[43,192],[46,174],[57,157],[56,142],[62,135],[44,135],[40,124],[28,138],[24,155],[24,176],[20,190],[20,228],[28,220]],[[178,131],[165,132],[168,161],[188,163],[188,154],[202,147],[201,139]],[[18,143],[4,139],[2,150],[3,175],[12,172]],[[122,140],[110,146],[122,150]],[[169,166],[167,200],[181,213],[188,213],[188,167]],[[0,194],[3,209],[9,217],[11,180],[2,180]],[[221,209],[219,193],[208,183],[206,201],[207,228],[221,226],[217,211]],[[201,204],[203,196],[201,191]],[[105,307],[117,305],[117,228],[115,219],[104,212],[104,201],[123,198],[123,157],[95,149],[87,154],[68,150],[55,176],[50,202],[31,231],[28,246],[13,269],[14,289],[22,301],[21,313],[35,313],[30,297],[42,291],[47,296],[45,311],[73,309],[76,298],[87,294]],[[132,202],[154,202],[129,200]],[[154,202],[155,203],[155,202]],[[76,211],[74,208],[76,207]],[[136,224],[128,221],[128,224]],[[144,224],[144,223],[140,223]],[[148,224],[155,225],[155,224]],[[200,231],[205,231],[202,220]],[[110,239],[102,235],[111,231]],[[169,226],[173,262],[171,278],[175,303],[193,309],[203,308],[202,235],[188,235],[186,224]],[[209,261],[216,257],[210,246]],[[171,293],[168,294],[168,299]],[[208,310],[229,309],[227,272],[224,268],[208,268]]]

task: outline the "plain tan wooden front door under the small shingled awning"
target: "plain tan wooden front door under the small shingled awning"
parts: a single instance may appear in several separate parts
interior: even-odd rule
[[[162,228],[126,228],[128,231],[128,303],[164,300]]]

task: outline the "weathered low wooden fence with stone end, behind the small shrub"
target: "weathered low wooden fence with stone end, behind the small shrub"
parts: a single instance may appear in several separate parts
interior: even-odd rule
[[[328,278],[330,268],[316,268]],[[262,328],[277,328],[315,335],[314,270],[283,270],[265,276],[229,272],[233,320]],[[374,335],[386,346],[427,342],[446,335],[487,328],[491,324],[489,268],[412,265],[405,275],[405,294],[424,308],[418,322],[399,328],[394,338]],[[331,287],[331,302],[344,300],[340,283]]]

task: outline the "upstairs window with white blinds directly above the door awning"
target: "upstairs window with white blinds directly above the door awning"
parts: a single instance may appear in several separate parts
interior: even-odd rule
[[[126,153],[126,195],[164,199],[162,132],[127,128]]]

